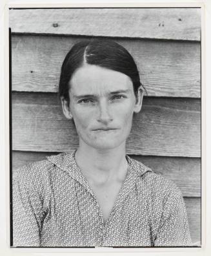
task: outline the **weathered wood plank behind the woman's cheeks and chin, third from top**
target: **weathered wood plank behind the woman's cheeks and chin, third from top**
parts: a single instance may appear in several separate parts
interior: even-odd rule
[[[78,145],[57,94],[12,94],[12,148],[17,151],[68,151]],[[145,98],[134,116],[126,151],[133,155],[201,157],[201,101]]]

